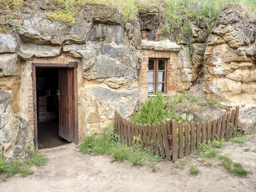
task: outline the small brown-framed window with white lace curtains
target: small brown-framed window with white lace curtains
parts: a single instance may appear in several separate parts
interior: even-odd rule
[[[156,94],[157,90],[165,93],[166,90],[167,59],[148,59],[148,93]]]

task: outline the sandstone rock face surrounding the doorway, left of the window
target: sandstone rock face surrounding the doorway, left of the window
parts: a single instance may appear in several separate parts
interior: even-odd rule
[[[131,116],[140,99],[138,20],[123,23],[118,10],[85,4],[75,24],[67,26],[46,19],[44,1],[38,0],[34,8],[30,17],[0,20],[7,30],[0,34],[0,152],[6,157],[24,157],[33,148],[33,114],[19,108],[33,105],[33,61],[79,61],[79,141],[101,133],[113,122],[115,111]],[[14,26],[19,26],[17,32]]]

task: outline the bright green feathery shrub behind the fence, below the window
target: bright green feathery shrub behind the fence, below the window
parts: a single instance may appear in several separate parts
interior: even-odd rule
[[[160,122],[165,118],[165,102],[163,100],[163,95],[160,91],[157,91],[157,96],[155,98],[151,97],[142,105],[140,112],[134,113],[131,117],[131,121],[134,123],[141,124],[152,124]]]

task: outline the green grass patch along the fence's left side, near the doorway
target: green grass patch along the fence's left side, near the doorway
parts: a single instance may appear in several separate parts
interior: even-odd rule
[[[111,126],[112,128],[112,126]],[[85,139],[79,146],[79,151],[86,154],[107,154],[112,155],[114,162],[128,160],[134,166],[143,166],[145,163],[149,163],[152,166],[152,170],[155,170],[155,163],[159,162],[162,158],[154,155],[154,151],[149,149],[143,149],[138,143],[140,140],[134,138],[132,146],[128,147],[125,144],[115,141],[116,135],[112,131],[108,131],[106,134],[102,134],[99,137],[95,135]]]

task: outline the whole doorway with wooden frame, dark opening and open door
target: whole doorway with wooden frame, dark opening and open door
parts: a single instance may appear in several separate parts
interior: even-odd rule
[[[77,143],[77,62],[32,64],[34,136],[38,148]]]

